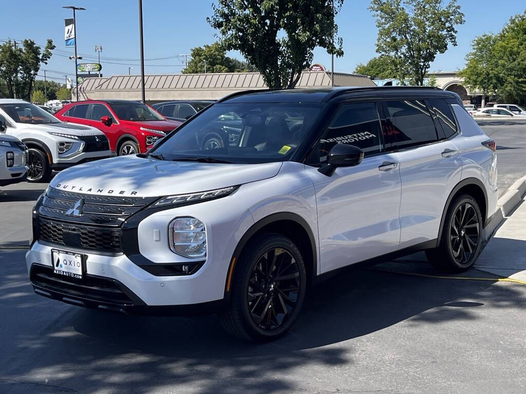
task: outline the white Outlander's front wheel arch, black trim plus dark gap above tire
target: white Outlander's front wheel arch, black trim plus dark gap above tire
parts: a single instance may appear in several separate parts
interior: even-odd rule
[[[239,240],[228,266],[225,298],[227,298],[230,293],[231,279],[238,266],[238,264],[236,264],[237,259],[249,241],[262,232],[279,233],[292,240],[304,258],[305,269],[307,271],[307,283],[316,283],[318,277],[316,241],[309,224],[298,214],[280,212],[266,216],[254,223]]]

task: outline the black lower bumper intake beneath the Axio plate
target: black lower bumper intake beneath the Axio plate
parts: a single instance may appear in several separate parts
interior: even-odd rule
[[[29,278],[35,288],[53,293],[54,298],[73,298],[87,307],[143,304],[128,288],[112,278],[84,275],[77,279],[54,274],[52,267],[39,264],[32,265]]]

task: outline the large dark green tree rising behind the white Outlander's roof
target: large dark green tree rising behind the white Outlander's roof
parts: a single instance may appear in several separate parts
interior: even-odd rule
[[[334,9],[333,9],[334,3]],[[239,50],[269,88],[294,88],[315,47],[342,56],[335,13],[343,0],[218,0],[208,23],[226,50]]]

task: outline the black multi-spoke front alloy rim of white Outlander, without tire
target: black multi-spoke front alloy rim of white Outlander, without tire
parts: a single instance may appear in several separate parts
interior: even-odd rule
[[[261,255],[248,281],[250,316],[260,328],[280,327],[298,306],[299,267],[295,258],[280,247]]]

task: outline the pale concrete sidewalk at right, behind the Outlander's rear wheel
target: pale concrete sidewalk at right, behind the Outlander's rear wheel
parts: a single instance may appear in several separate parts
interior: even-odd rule
[[[474,268],[526,281],[526,197],[504,218]]]

